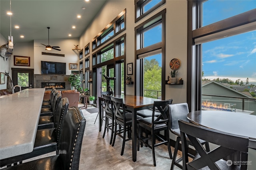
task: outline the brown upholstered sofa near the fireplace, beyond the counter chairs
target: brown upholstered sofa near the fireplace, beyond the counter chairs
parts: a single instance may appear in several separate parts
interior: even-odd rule
[[[62,98],[68,98],[69,105],[68,107],[78,106],[79,95],[80,93],[76,90],[63,90]]]

